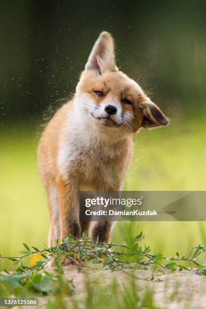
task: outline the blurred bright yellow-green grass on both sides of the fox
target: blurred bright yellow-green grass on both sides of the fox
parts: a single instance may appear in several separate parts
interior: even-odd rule
[[[1,133],[0,253],[4,255],[16,255],[22,242],[39,248],[47,243],[48,211],[32,128],[10,127]],[[195,117],[141,130],[135,137],[125,190],[205,190],[205,133],[204,119]],[[141,230],[152,252],[164,255],[187,254],[192,245],[205,242],[205,224],[197,222],[119,222],[112,241],[129,240]]]

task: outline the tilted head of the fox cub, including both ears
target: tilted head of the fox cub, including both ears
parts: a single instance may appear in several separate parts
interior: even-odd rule
[[[114,39],[100,33],[76,88],[76,106],[88,123],[122,133],[141,127],[166,126],[168,118],[146,96],[141,87],[118,70]]]

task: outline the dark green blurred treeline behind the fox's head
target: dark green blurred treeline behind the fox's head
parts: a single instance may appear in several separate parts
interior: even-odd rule
[[[205,1],[2,1],[1,123],[39,117],[75,89],[102,30],[120,69],[165,112],[204,106]]]

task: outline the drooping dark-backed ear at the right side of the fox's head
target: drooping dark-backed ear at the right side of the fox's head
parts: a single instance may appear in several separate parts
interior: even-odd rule
[[[139,107],[143,112],[143,121],[141,127],[146,129],[166,126],[169,124],[169,119],[161,112],[161,110],[147,98]]]

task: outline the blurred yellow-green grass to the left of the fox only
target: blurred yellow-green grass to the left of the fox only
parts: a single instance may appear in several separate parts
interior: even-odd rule
[[[1,136],[1,254],[16,254],[22,242],[47,243],[48,212],[31,128]]]

